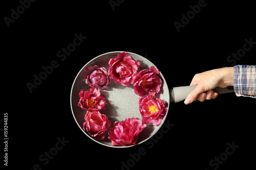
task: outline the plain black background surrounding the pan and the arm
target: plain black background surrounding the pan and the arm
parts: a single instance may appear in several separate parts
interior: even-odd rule
[[[166,122],[174,127],[153,148],[145,143],[104,147],[84,135],[73,118],[73,81],[88,61],[103,53],[127,51],[150,58],[169,88],[189,85],[199,72],[233,66],[228,56],[243,48],[245,38],[256,41],[254,4],[205,1],[178,33],[174,22],[181,22],[181,14],[198,2],[125,0],[113,11],[108,0],[36,1],[9,28],[4,17],[11,17],[11,9],[16,11],[20,3],[2,2],[1,118],[8,113],[8,168],[121,169],[121,162],[144,148],[146,154],[130,169],[214,169],[209,161],[225,152],[228,142],[239,148],[218,169],[254,167],[255,101],[234,93],[187,106],[170,104]],[[57,52],[80,33],[87,39],[61,61]],[[236,64],[255,65],[255,46]],[[26,83],[33,83],[33,75],[53,60],[59,66],[30,93]],[[1,127],[3,133],[3,122]],[[55,147],[58,137],[69,142],[44,165],[39,156]]]

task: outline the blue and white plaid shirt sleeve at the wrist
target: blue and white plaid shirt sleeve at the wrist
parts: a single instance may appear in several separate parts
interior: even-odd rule
[[[233,80],[237,96],[256,98],[256,65],[235,65]]]

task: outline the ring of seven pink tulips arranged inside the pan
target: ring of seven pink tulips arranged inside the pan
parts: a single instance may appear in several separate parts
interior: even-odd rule
[[[90,65],[83,72],[82,80],[90,86],[88,90],[82,89],[78,93],[78,106],[87,110],[83,130],[97,140],[104,139],[111,122],[107,115],[101,113],[108,104],[100,90],[107,89],[111,79],[122,86],[132,84],[134,92],[141,96],[138,99],[141,120],[131,117],[116,121],[109,129],[108,138],[113,146],[135,145],[146,124],[159,126],[167,112],[165,102],[155,96],[162,85],[160,72],[155,66],[137,72],[140,62],[133,60],[127,52],[120,52],[116,58],[110,59],[109,66],[107,70],[98,65]]]

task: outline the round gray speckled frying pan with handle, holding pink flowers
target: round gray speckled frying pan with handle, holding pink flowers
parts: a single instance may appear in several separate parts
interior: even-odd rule
[[[124,120],[125,118],[131,118],[133,116],[141,119],[141,115],[139,112],[139,104],[138,104],[138,99],[140,98],[140,96],[134,93],[134,87],[132,84],[124,87],[121,84],[116,84],[112,80],[110,85],[108,86],[108,89],[100,90],[101,93],[106,96],[107,98],[106,102],[108,103],[108,106],[106,107],[106,109],[102,110],[101,113],[107,115],[109,117],[109,120],[111,121],[111,126],[108,129],[108,131],[105,132],[105,138],[103,140],[97,140],[91,137],[89,134],[87,134],[87,132],[83,130],[83,123],[85,122],[84,114],[86,114],[86,110],[81,109],[77,105],[79,102],[78,93],[80,92],[80,90],[81,89],[88,90],[90,88],[89,85],[87,85],[84,81],[82,81],[82,74],[84,69],[86,69],[86,67],[90,65],[98,65],[99,67],[105,67],[108,70],[109,60],[111,58],[116,58],[119,52],[120,51],[102,54],[98,57],[95,57],[94,59],[92,59],[82,67],[82,69],[78,72],[74,80],[74,83],[72,85],[70,104],[71,104],[72,114],[74,116],[74,119],[78,127],[89,138],[107,147],[127,148],[127,147],[133,147],[134,145],[112,146],[111,140],[108,139],[108,131],[111,127],[113,127],[114,122],[116,121],[121,121],[121,120]],[[147,60],[146,58],[140,55],[130,53],[130,52],[127,52],[127,53],[129,53],[134,60],[140,62],[140,67],[138,68],[138,72],[142,69],[149,69],[151,66],[155,66],[151,61]],[[147,124],[146,128],[143,129],[142,132],[140,133],[136,145],[143,143],[147,139],[150,139],[161,128],[167,116],[170,102],[178,103],[185,100],[186,96],[196,87],[196,86],[182,86],[182,87],[174,87],[173,89],[169,90],[161,72],[160,72],[160,78],[162,79],[162,86],[161,86],[160,92],[156,93],[155,96],[166,103],[166,106],[167,106],[166,115],[164,116],[159,126],[153,126],[151,124]],[[232,89],[227,89],[227,88],[216,88],[214,89],[214,91],[217,91],[219,94],[233,92]]]

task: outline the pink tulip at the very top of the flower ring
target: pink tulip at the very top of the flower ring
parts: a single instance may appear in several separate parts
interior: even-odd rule
[[[131,79],[137,74],[140,62],[133,60],[128,53],[120,52],[117,58],[110,59],[109,65],[109,74],[114,82],[128,86]]]

